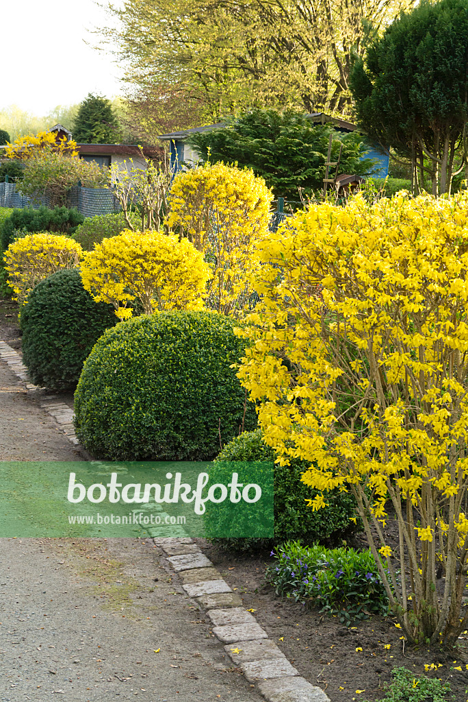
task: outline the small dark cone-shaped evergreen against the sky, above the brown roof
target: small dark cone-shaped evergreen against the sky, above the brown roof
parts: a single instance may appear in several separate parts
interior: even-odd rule
[[[81,102],[73,125],[73,138],[78,144],[117,144],[121,126],[111,102],[99,95],[88,94]]]

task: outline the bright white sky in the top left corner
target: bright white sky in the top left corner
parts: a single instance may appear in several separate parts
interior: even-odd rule
[[[120,94],[113,57],[87,46],[87,29],[115,22],[93,0],[10,0],[1,10],[0,110],[36,115],[81,102],[88,93]]]

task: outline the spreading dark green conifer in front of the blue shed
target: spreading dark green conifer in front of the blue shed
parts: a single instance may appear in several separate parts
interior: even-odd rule
[[[343,146],[340,173],[364,176],[371,171],[373,161],[362,158],[368,148],[362,134],[343,135],[331,125],[314,124],[302,112],[252,110],[228,119],[223,128],[194,133],[188,141],[202,159],[252,168],[276,195],[298,200],[298,188],[311,194],[323,187],[330,135],[331,161]]]

